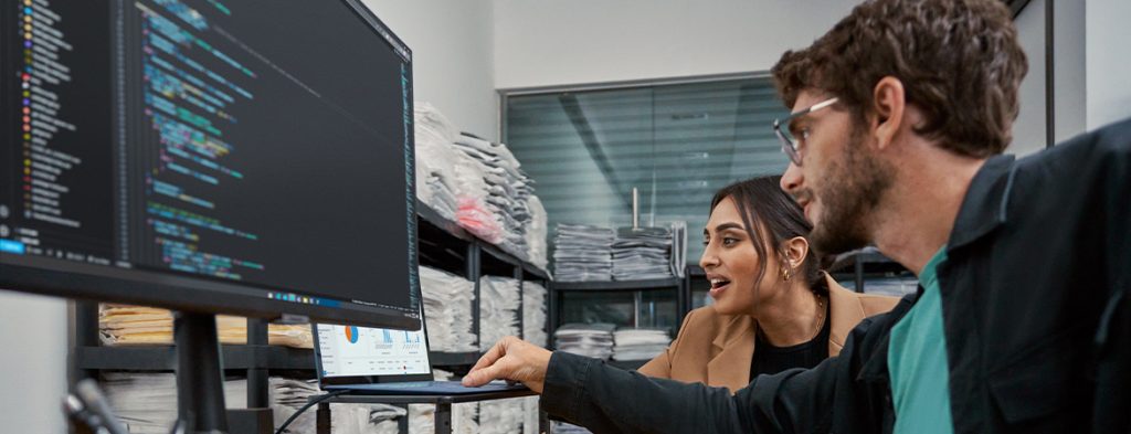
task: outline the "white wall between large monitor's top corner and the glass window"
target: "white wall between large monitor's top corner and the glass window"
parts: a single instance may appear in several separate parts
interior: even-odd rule
[[[413,50],[415,99],[456,127],[498,140],[490,0],[363,0]]]

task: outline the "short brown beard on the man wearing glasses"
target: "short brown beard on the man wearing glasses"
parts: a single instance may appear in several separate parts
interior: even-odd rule
[[[891,186],[893,167],[864,155],[862,132],[853,127],[841,157],[834,159],[821,176],[822,189],[813,191],[823,207],[809,241],[821,253],[836,254],[869,245],[872,231],[866,222]]]

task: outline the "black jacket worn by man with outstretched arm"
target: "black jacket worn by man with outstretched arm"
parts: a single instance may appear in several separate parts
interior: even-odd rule
[[[974,177],[939,269],[956,433],[1131,428],[1131,120]],[[725,389],[555,353],[543,408],[595,432],[891,432],[891,327],[839,357]]]

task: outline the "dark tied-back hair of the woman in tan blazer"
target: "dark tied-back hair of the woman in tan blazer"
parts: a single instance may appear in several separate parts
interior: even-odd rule
[[[746,226],[746,234],[750,235],[754,251],[758,252],[758,260],[761,262],[761,270],[758,271],[756,281],[762,281],[766,276],[766,266],[769,263],[767,244],[774,246],[775,255],[780,257],[778,249],[783,242],[795,236],[808,237],[809,232],[813,229],[813,225],[805,220],[801,206],[782,190],[780,181],[782,176],[771,175],[735,182],[720,189],[710,200],[711,212],[718,202],[726,198],[731,198],[739,209],[742,224]],[[766,237],[769,240],[763,240]],[[818,257],[810,246],[797,277],[804,278],[814,294],[828,295],[829,288],[824,284]]]

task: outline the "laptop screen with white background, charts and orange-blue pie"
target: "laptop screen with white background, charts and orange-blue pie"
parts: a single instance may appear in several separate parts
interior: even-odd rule
[[[318,324],[322,377],[431,374],[424,331]]]

